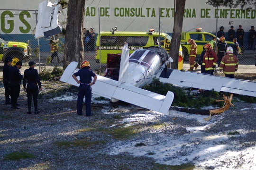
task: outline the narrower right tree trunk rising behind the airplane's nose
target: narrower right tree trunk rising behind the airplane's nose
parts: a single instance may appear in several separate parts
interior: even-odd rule
[[[183,26],[183,14],[186,0],[176,0],[176,11],[174,12],[174,30],[172,42],[170,45],[170,57],[174,60],[172,63],[173,69],[178,69],[179,64],[179,49],[181,43],[181,34]]]

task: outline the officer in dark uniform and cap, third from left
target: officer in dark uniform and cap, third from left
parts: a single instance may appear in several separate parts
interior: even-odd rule
[[[31,114],[32,96],[33,96],[33,102],[35,107],[35,114],[38,114],[40,113],[40,110],[37,110],[38,86],[39,86],[39,90],[42,91],[42,85],[39,79],[37,69],[34,69],[36,62],[30,61],[28,65],[29,65],[29,68],[24,71],[24,78],[23,78],[24,91],[27,92],[27,107],[28,107],[27,114]],[[26,88],[26,84],[27,84],[27,88]]]

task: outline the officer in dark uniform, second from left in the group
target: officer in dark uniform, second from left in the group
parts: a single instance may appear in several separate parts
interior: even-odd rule
[[[19,96],[19,89],[23,75],[20,74],[19,69],[22,66],[22,62],[18,61],[15,66],[9,68],[9,85],[11,93],[11,108],[20,109],[20,104],[17,103]]]

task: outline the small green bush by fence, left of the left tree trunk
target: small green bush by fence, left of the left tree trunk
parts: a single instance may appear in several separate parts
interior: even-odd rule
[[[55,77],[61,77],[63,74],[63,68],[55,66],[53,70],[49,70],[47,68],[43,68],[39,73],[39,77],[41,80],[49,80]]]

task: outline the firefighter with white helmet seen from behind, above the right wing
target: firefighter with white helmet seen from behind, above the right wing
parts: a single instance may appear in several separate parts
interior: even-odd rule
[[[228,47],[227,54],[221,59],[219,70],[223,70],[225,76],[229,78],[234,78],[235,72],[238,71],[238,58],[233,55],[232,47]]]

